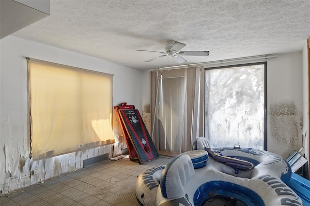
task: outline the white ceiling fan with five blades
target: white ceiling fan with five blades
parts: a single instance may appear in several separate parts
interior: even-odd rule
[[[186,60],[183,57],[181,57],[180,55],[182,55],[182,56],[205,56],[205,57],[209,55],[209,51],[180,51],[185,46],[186,46],[186,44],[183,44],[180,42],[168,41],[168,42],[164,43],[164,50],[166,52],[140,50],[140,49],[137,49],[136,51],[158,52],[160,54],[163,54],[163,55],[155,57],[153,59],[146,60],[145,62],[153,61],[155,59],[159,59],[159,58],[166,57],[166,56],[170,55],[172,57],[172,59],[174,59],[179,64],[186,62]]]

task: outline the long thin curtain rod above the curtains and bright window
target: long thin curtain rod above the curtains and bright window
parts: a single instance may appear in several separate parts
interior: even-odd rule
[[[156,68],[152,71],[156,70],[170,70],[170,69],[181,69],[181,68],[188,68],[191,66],[206,66],[206,65],[213,65],[213,64],[221,64],[221,63],[230,63],[230,62],[237,62],[242,60],[259,60],[259,59],[271,59],[276,58],[277,56],[275,54],[270,55],[259,55],[259,56],[251,56],[251,57],[243,57],[243,58],[236,58],[236,59],[225,59],[225,60],[217,60],[217,61],[207,61],[202,63],[195,63],[195,64],[185,64],[185,65],[178,65],[178,66],[171,66],[171,67],[160,67]]]

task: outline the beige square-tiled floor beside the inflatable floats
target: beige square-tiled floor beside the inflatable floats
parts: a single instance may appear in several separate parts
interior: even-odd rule
[[[166,165],[159,157],[139,164],[129,159],[98,162],[0,196],[0,206],[139,206],[137,176],[145,169]]]

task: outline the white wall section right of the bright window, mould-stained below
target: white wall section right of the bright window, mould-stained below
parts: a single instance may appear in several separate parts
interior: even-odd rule
[[[267,149],[286,158],[302,146],[302,53],[267,61]]]

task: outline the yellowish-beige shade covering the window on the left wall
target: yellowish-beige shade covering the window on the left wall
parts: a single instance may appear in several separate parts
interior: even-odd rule
[[[115,143],[111,74],[37,59],[28,74],[33,159]]]

